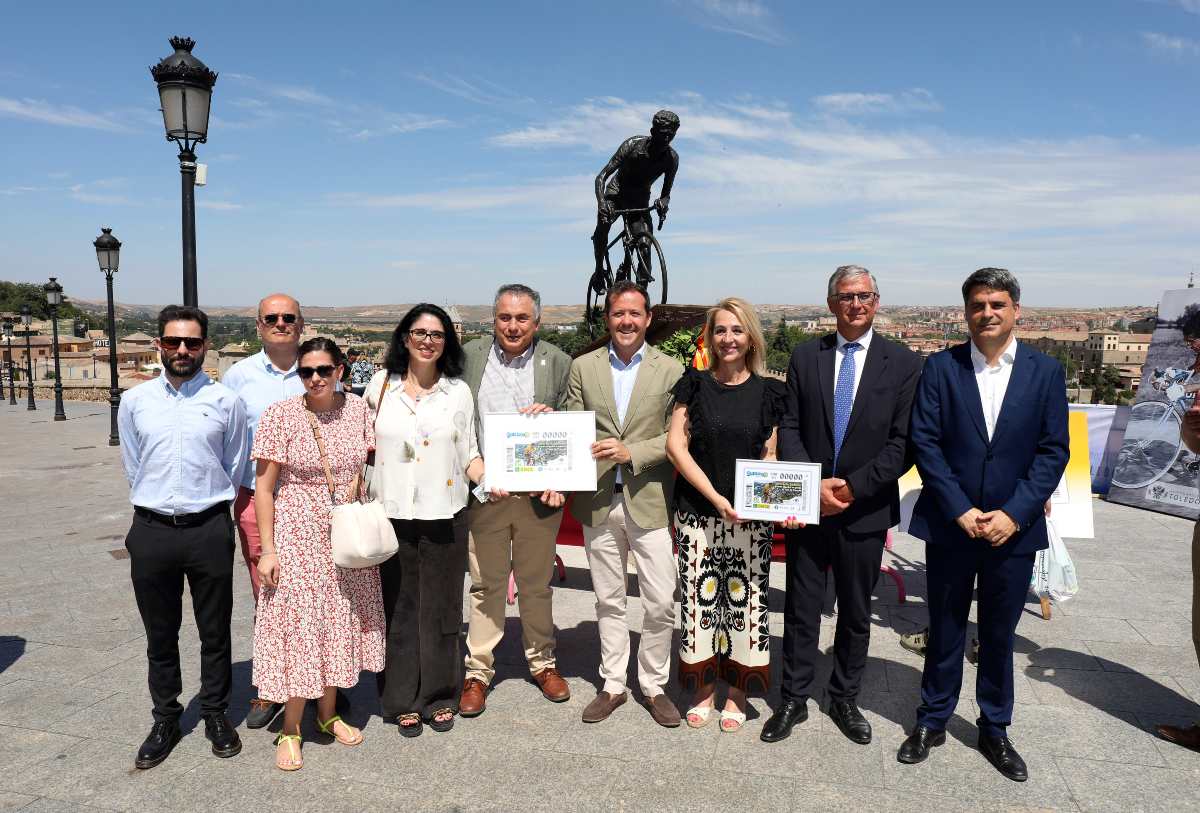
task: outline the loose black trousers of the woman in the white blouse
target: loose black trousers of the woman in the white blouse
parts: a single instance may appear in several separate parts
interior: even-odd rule
[[[388,660],[377,676],[383,718],[458,709],[466,511],[454,519],[392,519],[400,550],[379,566]]]

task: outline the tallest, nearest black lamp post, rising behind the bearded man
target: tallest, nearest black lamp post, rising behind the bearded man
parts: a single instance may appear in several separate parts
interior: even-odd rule
[[[199,306],[196,288],[196,145],[209,137],[209,106],[217,80],[200,60],[192,56],[196,41],[172,37],[175,53],[150,68],[158,84],[162,122],[167,140],[179,144],[179,173],[184,189],[184,305]]]

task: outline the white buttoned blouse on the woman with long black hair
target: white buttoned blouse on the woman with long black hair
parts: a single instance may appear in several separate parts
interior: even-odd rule
[[[479,457],[470,387],[442,377],[433,392],[413,401],[403,379],[384,369],[366,389],[372,410],[385,384],[370,494],[392,519],[450,519],[467,506],[467,465]]]

